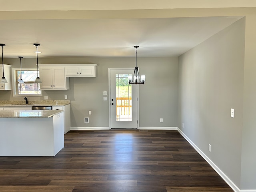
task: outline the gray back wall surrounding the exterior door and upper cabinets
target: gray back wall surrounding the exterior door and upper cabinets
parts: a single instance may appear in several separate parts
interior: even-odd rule
[[[20,60],[5,59],[6,64],[19,67]],[[36,67],[35,59],[23,59],[22,66]],[[108,127],[108,101],[103,101],[103,91],[108,91],[108,68],[135,66],[135,58],[39,58],[39,64],[96,63],[96,78],[70,78],[70,90],[45,90],[43,97],[29,100],[63,100],[68,95],[71,102],[72,127]],[[138,58],[140,74],[146,75],[146,84],[139,85],[140,126],[177,127],[178,58]],[[159,94],[161,93],[161,94]],[[12,97],[12,91],[0,91],[0,100],[23,100]],[[88,111],[92,115],[88,115]],[[84,123],[89,117],[89,123]],[[164,119],[160,123],[160,118]]]

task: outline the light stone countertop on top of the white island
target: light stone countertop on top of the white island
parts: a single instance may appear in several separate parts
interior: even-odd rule
[[[0,118],[49,118],[64,110],[0,110]]]

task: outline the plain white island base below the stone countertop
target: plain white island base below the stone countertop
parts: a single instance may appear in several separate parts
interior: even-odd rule
[[[0,156],[55,156],[64,148],[63,118],[0,118]]]

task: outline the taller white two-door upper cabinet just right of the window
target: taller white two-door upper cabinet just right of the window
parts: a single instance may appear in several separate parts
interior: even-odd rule
[[[69,78],[65,76],[64,67],[39,65],[42,90],[66,90],[69,89]]]

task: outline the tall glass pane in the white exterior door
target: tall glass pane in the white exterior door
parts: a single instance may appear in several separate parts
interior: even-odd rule
[[[129,74],[116,74],[116,121],[132,121],[132,86]]]

